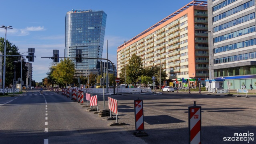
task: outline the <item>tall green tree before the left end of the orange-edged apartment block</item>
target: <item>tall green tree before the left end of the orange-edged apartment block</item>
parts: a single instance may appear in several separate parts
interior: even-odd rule
[[[142,59],[136,54],[132,54],[129,59],[129,64],[126,65],[126,80],[128,83],[136,83],[138,76],[141,76],[143,71]],[[123,73],[123,72],[121,72]]]

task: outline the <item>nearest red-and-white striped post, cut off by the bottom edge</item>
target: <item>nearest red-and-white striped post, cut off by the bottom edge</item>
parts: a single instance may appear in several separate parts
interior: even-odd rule
[[[201,106],[188,107],[189,144],[201,144]]]

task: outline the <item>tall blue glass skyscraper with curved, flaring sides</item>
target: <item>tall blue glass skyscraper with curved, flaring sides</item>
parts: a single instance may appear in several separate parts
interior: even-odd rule
[[[103,10],[72,10],[66,14],[65,57],[102,58],[107,15]],[[76,76],[98,73],[100,60],[82,59],[75,64]]]

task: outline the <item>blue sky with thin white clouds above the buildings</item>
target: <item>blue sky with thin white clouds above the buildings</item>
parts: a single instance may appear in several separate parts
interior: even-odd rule
[[[35,48],[32,79],[41,82],[53,62],[41,57],[53,56],[55,49],[64,57],[66,12],[72,9],[104,10],[107,22],[102,58],[106,58],[108,39],[108,58],[116,64],[116,50],[124,40],[132,39],[191,1],[2,0],[0,25],[13,27],[7,30],[7,40],[15,44],[19,52]],[[5,37],[4,28],[0,28],[0,37]]]

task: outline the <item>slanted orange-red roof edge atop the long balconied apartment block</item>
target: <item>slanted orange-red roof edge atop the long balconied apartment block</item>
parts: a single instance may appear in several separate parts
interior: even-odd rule
[[[146,34],[147,32],[149,32],[150,30],[156,28],[157,26],[159,26],[160,24],[163,24],[164,22],[166,22],[167,20],[169,20],[170,18],[173,18],[174,16],[176,16],[177,14],[179,14],[180,12],[183,12],[184,10],[186,10],[187,8],[189,8],[190,6],[207,6],[207,1],[199,1],[199,0],[193,0],[192,2],[186,4],[185,6],[183,6],[182,8],[180,8],[179,10],[177,10],[176,12],[170,14],[169,16],[167,16],[166,18],[162,19],[160,22],[154,24],[153,26],[151,26],[150,28],[148,28],[147,30],[145,30],[144,32],[138,34],[137,36],[135,36],[134,38],[130,39],[128,42],[125,42],[124,44],[122,44],[121,46],[118,46],[119,48],[122,48],[123,46],[129,44],[130,42],[132,42],[133,40],[136,40],[137,38],[139,38],[140,36]]]

